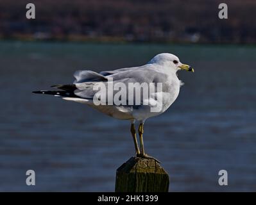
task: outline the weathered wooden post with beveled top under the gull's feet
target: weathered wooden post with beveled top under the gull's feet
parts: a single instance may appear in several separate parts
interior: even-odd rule
[[[115,192],[168,192],[169,176],[156,160],[132,157],[117,168]]]

